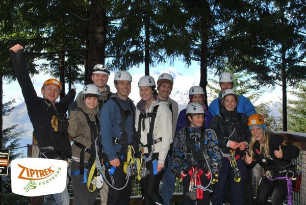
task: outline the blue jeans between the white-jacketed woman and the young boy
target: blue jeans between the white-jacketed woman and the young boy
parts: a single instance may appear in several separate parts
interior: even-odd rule
[[[168,157],[167,169],[163,175],[162,198],[164,205],[170,205],[175,189],[175,175],[171,170],[171,157]]]

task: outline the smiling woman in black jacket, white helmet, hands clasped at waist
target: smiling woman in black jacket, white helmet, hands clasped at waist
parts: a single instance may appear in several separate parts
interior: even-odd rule
[[[242,204],[246,167],[241,160],[251,138],[247,116],[237,112],[238,96],[232,89],[222,93],[222,109],[210,124],[218,137],[222,153],[220,180],[214,185],[213,204],[222,204],[227,179],[230,178],[231,204]]]

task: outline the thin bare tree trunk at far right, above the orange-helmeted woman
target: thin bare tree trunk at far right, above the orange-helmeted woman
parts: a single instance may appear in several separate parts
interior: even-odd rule
[[[282,87],[283,87],[283,131],[287,132],[287,78],[286,78],[286,47],[282,43]]]

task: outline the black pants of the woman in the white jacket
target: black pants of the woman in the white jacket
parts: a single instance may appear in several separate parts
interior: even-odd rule
[[[153,156],[155,159],[158,159],[156,153],[154,153]],[[154,175],[152,161],[148,162],[146,166],[150,173],[140,180],[142,202],[144,205],[163,204],[163,199],[158,190],[164,174],[164,169],[162,169],[157,175]]]

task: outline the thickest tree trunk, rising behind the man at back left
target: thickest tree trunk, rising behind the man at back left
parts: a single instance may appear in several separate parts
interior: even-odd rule
[[[93,0],[90,11],[88,67],[85,76],[85,84],[92,82],[91,73],[93,66],[105,63],[106,45],[106,0]]]

